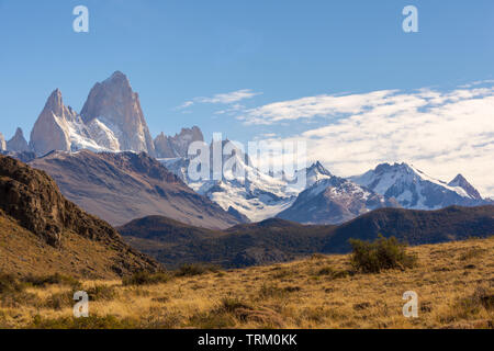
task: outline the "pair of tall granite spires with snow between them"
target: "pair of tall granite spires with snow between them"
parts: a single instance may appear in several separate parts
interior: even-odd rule
[[[33,127],[30,148],[37,156],[80,149],[155,156],[138,94],[120,71],[92,88],[80,115],[66,106],[60,90],[55,90]]]

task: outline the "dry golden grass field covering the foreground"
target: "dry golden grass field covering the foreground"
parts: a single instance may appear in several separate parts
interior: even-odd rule
[[[349,256],[317,254],[157,285],[85,281],[83,288],[113,288],[111,299],[90,302],[93,318],[114,317],[96,325],[102,328],[493,328],[494,237],[408,251],[418,257],[416,268],[379,274],[348,274]],[[403,316],[405,291],[418,294],[418,318]],[[26,292],[34,302],[0,307],[0,327],[71,326],[72,306],[48,303],[70,287]]]

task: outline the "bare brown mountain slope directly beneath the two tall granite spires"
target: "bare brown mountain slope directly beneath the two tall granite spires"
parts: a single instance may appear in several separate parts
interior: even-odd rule
[[[30,166],[52,176],[67,199],[115,226],[149,215],[206,228],[238,224],[146,154],[55,151]]]

